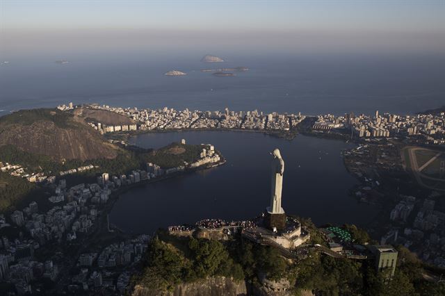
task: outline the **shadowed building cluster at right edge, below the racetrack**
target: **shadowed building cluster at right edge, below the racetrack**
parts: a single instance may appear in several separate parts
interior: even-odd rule
[[[403,196],[390,213],[392,227],[382,243],[397,242],[427,263],[445,268],[445,213],[431,198]]]

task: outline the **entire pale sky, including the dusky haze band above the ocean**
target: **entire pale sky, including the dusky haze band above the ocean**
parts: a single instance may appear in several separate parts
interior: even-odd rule
[[[0,0],[0,54],[181,47],[443,51],[444,0]]]

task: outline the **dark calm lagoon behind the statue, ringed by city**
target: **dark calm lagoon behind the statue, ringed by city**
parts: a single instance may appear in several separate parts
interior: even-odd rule
[[[188,144],[215,145],[227,163],[131,188],[115,203],[111,223],[124,231],[153,233],[159,227],[205,218],[245,220],[259,215],[270,198],[269,152],[275,147],[286,164],[282,195],[286,213],[311,217],[316,225],[363,227],[378,213],[348,195],[357,180],[346,171],[341,151],[353,144],[305,135],[284,140],[239,131],[145,133],[131,142],[156,149],[181,138]]]

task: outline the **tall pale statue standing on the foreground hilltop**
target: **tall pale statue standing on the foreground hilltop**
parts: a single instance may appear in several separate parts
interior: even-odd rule
[[[270,152],[273,155],[272,161],[272,186],[270,191],[270,206],[267,211],[271,214],[284,214],[281,206],[281,192],[283,188],[284,161],[280,150],[275,149]]]

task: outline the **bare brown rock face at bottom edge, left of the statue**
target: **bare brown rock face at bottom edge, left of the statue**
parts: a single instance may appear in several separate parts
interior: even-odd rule
[[[133,296],[242,296],[248,295],[244,281],[234,281],[226,277],[212,277],[195,283],[181,283],[171,292],[150,290],[141,285],[133,289]]]

